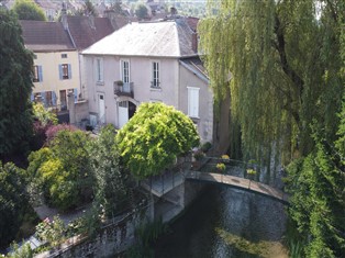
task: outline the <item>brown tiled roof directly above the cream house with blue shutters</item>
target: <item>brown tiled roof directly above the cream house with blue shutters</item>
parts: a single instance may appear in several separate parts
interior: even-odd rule
[[[59,22],[20,21],[25,46],[33,52],[75,49]]]

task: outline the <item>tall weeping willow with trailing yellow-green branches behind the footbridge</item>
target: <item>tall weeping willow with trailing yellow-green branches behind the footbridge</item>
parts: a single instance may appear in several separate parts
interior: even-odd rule
[[[200,47],[215,99],[231,94],[245,158],[268,160],[272,147],[283,162],[308,154],[314,146],[313,120],[333,141],[344,91],[338,36],[343,2],[219,4],[216,15],[200,22]]]

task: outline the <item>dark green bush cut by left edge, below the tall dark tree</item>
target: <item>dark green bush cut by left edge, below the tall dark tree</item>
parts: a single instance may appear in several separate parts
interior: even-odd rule
[[[0,160],[0,247],[14,239],[29,209],[25,184],[22,169]]]

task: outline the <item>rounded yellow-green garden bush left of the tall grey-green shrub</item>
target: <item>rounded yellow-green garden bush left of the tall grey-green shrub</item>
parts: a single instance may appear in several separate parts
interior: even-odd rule
[[[92,175],[89,169],[89,138],[81,131],[60,131],[48,147],[31,153],[29,175],[46,201],[60,210],[89,201]],[[35,195],[35,194],[34,194]]]

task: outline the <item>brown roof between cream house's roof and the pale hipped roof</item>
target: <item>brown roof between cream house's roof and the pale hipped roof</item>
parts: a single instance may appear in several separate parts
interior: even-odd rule
[[[66,16],[68,30],[78,49],[84,49],[111,34],[114,29],[108,18]]]

